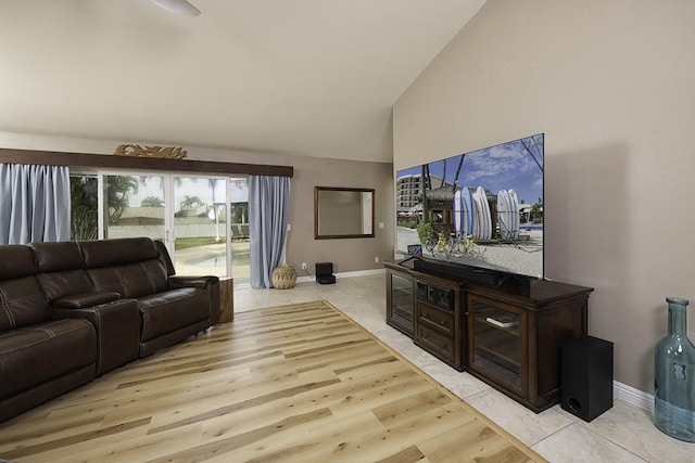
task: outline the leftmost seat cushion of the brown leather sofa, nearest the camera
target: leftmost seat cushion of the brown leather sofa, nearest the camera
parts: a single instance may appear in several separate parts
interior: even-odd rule
[[[0,334],[0,400],[97,361],[97,334],[86,320],[54,320]]]

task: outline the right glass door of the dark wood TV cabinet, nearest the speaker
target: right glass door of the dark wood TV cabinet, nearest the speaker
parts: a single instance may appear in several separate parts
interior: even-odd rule
[[[527,342],[526,312],[469,295],[470,368],[523,394]]]

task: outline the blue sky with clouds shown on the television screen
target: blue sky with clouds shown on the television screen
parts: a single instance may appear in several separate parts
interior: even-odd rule
[[[533,157],[522,142],[530,146]],[[429,163],[430,173],[442,177],[446,165],[445,180],[453,183],[459,159],[457,155]],[[519,203],[535,204],[543,197],[543,171],[536,160],[543,166],[543,133],[473,151],[464,157],[457,185],[482,187],[493,194],[513,189]],[[421,171],[422,166],[399,170],[396,179]],[[433,183],[433,188],[440,187],[435,180]]]

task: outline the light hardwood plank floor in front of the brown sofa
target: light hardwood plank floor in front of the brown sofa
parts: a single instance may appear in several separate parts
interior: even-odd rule
[[[0,458],[544,461],[323,303],[239,313],[108,373],[0,425]]]

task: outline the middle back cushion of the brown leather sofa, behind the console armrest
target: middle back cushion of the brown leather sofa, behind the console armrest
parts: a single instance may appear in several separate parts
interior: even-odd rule
[[[39,281],[49,303],[92,291],[84,269],[83,252],[74,241],[31,243]]]

